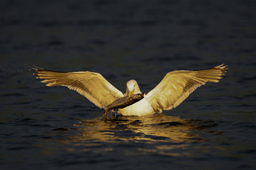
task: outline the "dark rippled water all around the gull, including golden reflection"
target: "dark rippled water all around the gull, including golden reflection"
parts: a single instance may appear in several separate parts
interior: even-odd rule
[[[256,169],[255,1],[1,1],[0,169]],[[150,91],[228,64],[172,111],[103,120],[23,63]]]

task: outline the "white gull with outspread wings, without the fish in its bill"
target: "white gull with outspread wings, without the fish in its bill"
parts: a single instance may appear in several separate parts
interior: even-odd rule
[[[179,106],[199,86],[206,82],[217,83],[226,69],[228,66],[221,64],[210,69],[168,72],[154,89],[143,94],[134,79],[126,83],[126,93],[122,93],[96,72],[55,72],[35,65],[30,67],[31,71],[36,72],[36,78],[43,79],[41,82],[46,83],[46,86],[66,86],[77,91],[94,105],[104,108],[105,116],[111,108],[121,115],[137,116],[169,111]],[[136,99],[126,102],[129,98]],[[121,106],[120,102],[125,104]]]

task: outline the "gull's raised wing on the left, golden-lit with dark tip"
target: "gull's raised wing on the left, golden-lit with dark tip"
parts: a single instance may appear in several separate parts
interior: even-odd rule
[[[37,79],[43,79],[46,86],[66,86],[85,96],[99,108],[106,108],[123,93],[95,72],[53,72],[39,67],[30,67]]]

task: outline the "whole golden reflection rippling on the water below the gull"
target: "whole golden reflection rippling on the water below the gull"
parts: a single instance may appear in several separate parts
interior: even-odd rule
[[[57,140],[57,145],[44,142],[44,152],[54,154],[64,147],[68,152],[99,155],[160,154],[177,157],[182,154],[192,157],[194,152],[188,152],[191,142],[203,142],[207,134],[221,134],[211,129],[215,126],[213,120],[184,120],[164,114],[148,117],[119,116],[112,120],[104,120],[101,117],[77,120],[73,127],[75,132],[67,128],[52,130],[49,133],[52,136],[50,141],[56,142],[55,135],[60,134],[61,139]]]

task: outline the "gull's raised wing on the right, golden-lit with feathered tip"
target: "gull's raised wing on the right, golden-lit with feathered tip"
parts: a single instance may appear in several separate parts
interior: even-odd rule
[[[182,103],[199,86],[208,81],[218,82],[226,69],[228,69],[227,66],[221,64],[211,69],[169,72],[145,98],[157,113],[161,113],[162,110],[171,110]]]

